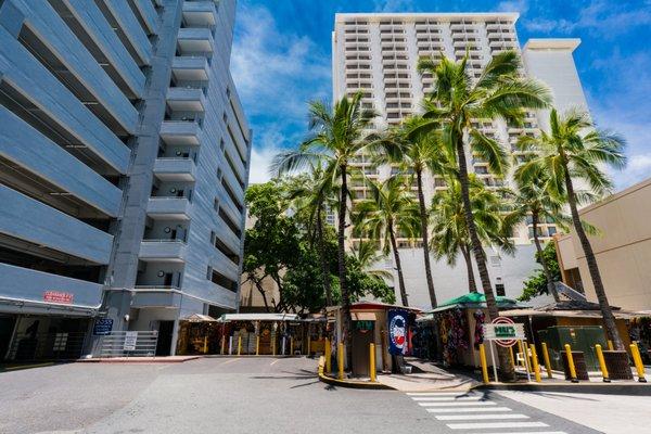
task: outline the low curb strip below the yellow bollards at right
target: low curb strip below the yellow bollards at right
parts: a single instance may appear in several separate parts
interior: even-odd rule
[[[647,383],[584,383],[584,384],[507,384],[492,383],[481,384],[473,387],[484,391],[520,391],[520,392],[563,392],[563,393],[587,393],[601,395],[628,395],[628,396],[651,396],[651,385]]]

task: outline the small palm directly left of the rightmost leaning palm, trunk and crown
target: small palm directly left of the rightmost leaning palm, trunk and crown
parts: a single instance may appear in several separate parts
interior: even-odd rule
[[[549,177],[542,170],[538,170],[537,173],[532,171],[528,179],[515,177],[514,180],[518,190],[511,197],[513,209],[507,215],[506,219],[510,225],[515,226],[518,222],[531,218],[534,244],[536,245],[536,252],[538,252],[538,258],[542,266],[542,273],[547,280],[547,292],[558,303],[560,298],[551,277],[551,271],[542,255],[538,225],[540,222],[554,222],[561,227],[564,226],[564,221],[566,221],[566,217],[562,215],[564,197],[559,199],[550,191]]]

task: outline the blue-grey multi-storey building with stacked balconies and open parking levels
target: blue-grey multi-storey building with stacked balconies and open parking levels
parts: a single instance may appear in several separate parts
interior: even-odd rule
[[[179,318],[237,309],[234,3],[0,1],[0,359],[88,349],[97,318],[170,354]]]

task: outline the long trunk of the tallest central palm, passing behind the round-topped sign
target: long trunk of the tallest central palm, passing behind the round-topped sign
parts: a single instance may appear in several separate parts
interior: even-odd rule
[[[484,290],[484,296],[486,297],[486,307],[488,308],[488,317],[494,320],[499,317],[499,309],[497,308],[497,302],[495,294],[493,293],[493,286],[490,285],[490,277],[488,276],[488,268],[486,267],[486,256],[484,255],[484,248],[482,242],[477,235],[477,228],[475,227],[474,217],[472,215],[472,205],[470,202],[470,182],[468,179],[468,163],[465,162],[465,150],[463,146],[463,131],[456,131],[456,149],[457,158],[459,158],[459,183],[461,184],[461,199],[463,201],[463,215],[465,217],[465,226],[468,227],[468,233],[470,234],[470,242],[472,244],[472,251],[474,253],[475,260],[477,263],[477,270],[480,271],[480,280],[482,281],[482,290]],[[497,346],[497,355],[499,358],[500,371],[502,373],[502,381],[514,381],[515,371],[511,366],[509,359],[509,352],[507,348]]]

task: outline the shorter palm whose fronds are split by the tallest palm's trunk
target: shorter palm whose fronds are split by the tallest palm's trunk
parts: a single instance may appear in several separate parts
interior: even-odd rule
[[[470,176],[470,202],[477,234],[483,245],[494,245],[511,254],[513,243],[509,240],[511,227],[501,218],[501,199],[486,189],[483,182]],[[432,197],[432,252],[436,259],[444,256],[450,266],[457,264],[461,252],[468,273],[470,292],[477,292],[471,258],[471,241],[465,225],[465,213],[461,200],[461,186],[456,178],[449,178],[447,188]]]

